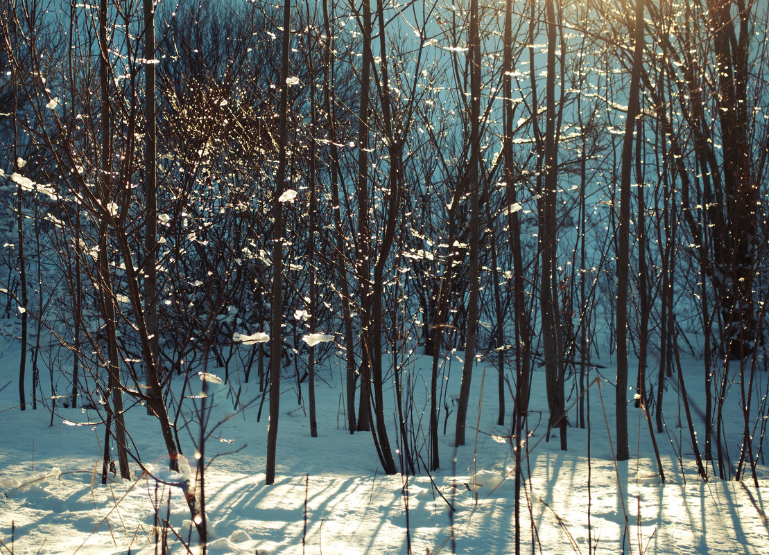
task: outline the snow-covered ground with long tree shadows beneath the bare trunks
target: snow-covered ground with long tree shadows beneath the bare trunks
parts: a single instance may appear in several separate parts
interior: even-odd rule
[[[5,386],[0,392],[0,553],[161,553],[153,532],[156,514],[168,517],[172,553],[187,553],[177,533],[184,543],[192,537],[191,553],[201,552],[178,487],[158,484],[136,465],[134,479],[113,478],[102,486],[104,430],[88,424],[95,414],[58,409],[52,418],[45,407],[22,413],[15,382],[18,352],[6,352],[0,364],[0,387]],[[428,359],[414,357],[410,364],[414,383],[424,382]],[[458,392],[460,366],[457,361],[452,366],[448,391]],[[704,409],[701,362],[687,361],[684,374],[693,404]],[[413,553],[514,553],[514,454],[509,427],[495,424],[497,376],[490,365],[479,364],[474,373],[468,444],[453,446],[451,413],[448,434],[441,435],[441,470],[408,480],[382,474],[370,434],[351,435],[344,429],[337,362],[326,365],[321,375],[325,381],[317,387],[317,438],[310,437],[307,407],[298,405],[295,381],[284,381],[278,477],[272,486],[265,486],[266,404],[257,423],[258,403],[233,410],[228,392],[238,384],[208,383],[208,400],[215,405],[208,428],[232,415],[205,444],[210,463],[205,474],[208,553],[384,555],[407,553],[408,537]],[[521,509],[524,553],[767,553],[767,467],[758,467],[758,489],[752,480],[718,480],[712,467],[709,481],[697,477],[674,384],[666,392],[667,433],[657,434],[664,483],[647,424],[632,403],[631,460],[615,463],[609,440],[609,434],[614,437],[612,377],[611,367],[591,374],[598,380],[590,390],[590,431],[569,428],[569,450],[563,452],[557,439],[544,441],[544,373],[534,372]],[[763,374],[758,377],[762,384],[766,381]],[[192,383],[202,384],[198,377]],[[241,399],[258,397],[256,384],[241,385]],[[306,383],[303,387],[306,399]],[[728,447],[735,461],[741,440],[737,401],[733,392],[727,438],[733,440]],[[509,397],[507,405],[511,420]],[[683,428],[678,427],[679,414]],[[414,414],[415,420],[420,417],[426,428],[427,415]],[[574,424],[573,411],[570,418]],[[141,460],[167,474],[157,422],[142,407],[134,407],[127,425]],[[197,422],[188,430],[180,437],[190,456],[190,434],[198,437]],[[215,454],[221,456],[211,460]]]

